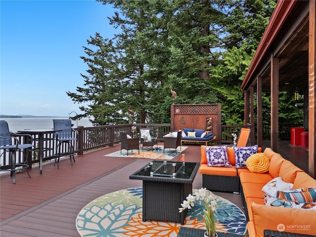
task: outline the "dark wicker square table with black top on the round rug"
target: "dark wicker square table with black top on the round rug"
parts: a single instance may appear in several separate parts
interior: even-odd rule
[[[188,209],[181,203],[192,194],[199,163],[155,160],[129,176],[143,180],[143,221],[158,220],[184,224]]]

